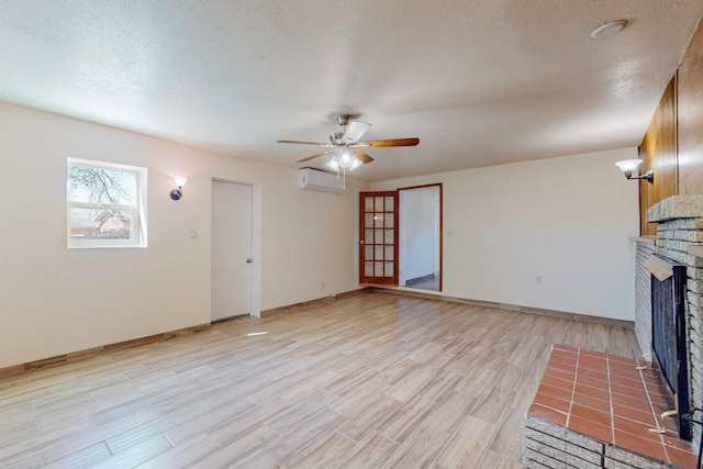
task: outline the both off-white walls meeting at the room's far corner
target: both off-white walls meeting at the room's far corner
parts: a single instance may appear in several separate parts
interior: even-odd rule
[[[613,163],[636,148],[347,179],[336,196],[298,190],[293,168],[5,103],[0,141],[0,368],[208,323],[212,178],[260,185],[263,310],[357,288],[360,190],[443,182],[445,294],[634,316],[637,183]],[[147,248],[66,248],[69,156],[148,168]],[[189,177],[179,202],[171,175]]]

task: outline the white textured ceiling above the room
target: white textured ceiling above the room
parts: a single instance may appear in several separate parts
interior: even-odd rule
[[[373,181],[638,145],[701,0],[1,0],[0,100],[299,167],[342,111]],[[607,40],[602,23],[627,19]],[[317,158],[324,164],[322,158]]]

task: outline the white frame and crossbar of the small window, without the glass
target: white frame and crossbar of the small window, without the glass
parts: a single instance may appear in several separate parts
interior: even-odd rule
[[[68,166],[85,166],[98,169],[114,169],[124,172],[132,172],[136,178],[136,201],[134,206],[132,205],[118,205],[118,204],[101,204],[101,203],[87,203],[87,202],[70,202],[68,197],[66,198],[66,247],[69,249],[85,249],[85,248],[120,248],[120,247],[146,247],[147,246],[147,230],[146,230],[146,177],[147,169],[138,166],[120,165],[116,163],[98,161],[91,159],[80,158],[66,158],[66,174],[68,174]],[[135,216],[132,220],[133,236],[129,239],[79,239],[71,238],[70,235],[70,209],[112,209],[134,211]]]

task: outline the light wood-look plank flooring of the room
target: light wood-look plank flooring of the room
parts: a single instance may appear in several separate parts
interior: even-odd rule
[[[629,330],[378,291],[234,319],[0,381],[0,468],[517,468],[555,343],[637,354]]]

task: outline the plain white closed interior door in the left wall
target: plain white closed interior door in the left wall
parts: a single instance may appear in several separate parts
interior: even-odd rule
[[[212,181],[212,321],[252,312],[252,186]]]

